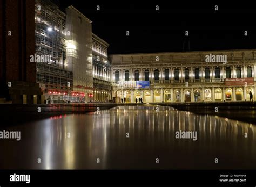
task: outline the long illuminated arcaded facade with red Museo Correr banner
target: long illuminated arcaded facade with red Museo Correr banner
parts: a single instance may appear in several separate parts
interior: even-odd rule
[[[126,103],[220,102],[250,100],[252,92],[255,100],[255,54],[246,49],[111,55],[112,95]],[[150,86],[139,88],[136,81]]]

